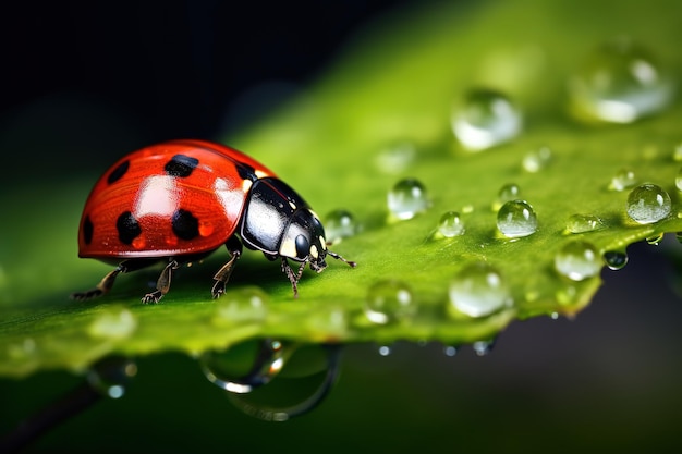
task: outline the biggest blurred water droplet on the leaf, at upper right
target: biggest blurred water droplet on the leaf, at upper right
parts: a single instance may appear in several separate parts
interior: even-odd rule
[[[659,112],[673,93],[651,54],[626,38],[599,47],[569,88],[579,115],[612,123],[631,123]]]

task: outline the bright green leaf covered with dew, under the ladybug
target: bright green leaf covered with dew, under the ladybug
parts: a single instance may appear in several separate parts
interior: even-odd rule
[[[589,7],[595,17],[608,12],[609,23],[588,21],[584,8],[531,0],[454,5],[373,24],[319,84],[232,140],[277,171],[322,218],[344,209],[358,225],[355,235],[332,247],[357,268],[330,258],[324,273],[304,273],[297,299],[277,263],[247,253],[227,294],[212,300],[212,273],[227,260],[221,250],[202,266],[180,270],[159,305],[139,303],[158,270],[120,277],[101,299],[70,302],[70,292],[92,286],[111,269],[76,258],[75,226],[93,179],[3,193],[0,201],[9,212],[25,214],[3,228],[0,373],[77,370],[112,353],[197,354],[259,336],[462,344],[491,340],[515,319],[579,312],[600,279],[572,281],[557,272],[555,258],[567,244],[588,242],[600,256],[682,231],[680,163],[673,159],[682,106],[674,102],[629,125],[587,124],[567,113],[564,89],[586,56],[623,29],[655,50],[671,74],[679,73],[682,32],[665,9],[655,21],[642,21],[656,10],[636,1],[629,8],[620,1]],[[529,17],[543,20],[520,25]],[[473,87],[515,100],[525,115],[519,137],[482,152],[458,145],[451,106]],[[387,165],[391,156],[410,156],[390,155],[403,144],[414,158],[404,169]],[[526,171],[524,157],[545,146],[551,150],[547,165]],[[665,188],[672,198],[670,216],[651,224],[632,221],[625,211],[630,189],[609,188],[621,169]],[[397,221],[388,213],[387,194],[403,177],[424,185],[429,207]],[[513,241],[497,232],[491,208],[510,183],[519,185],[538,219],[536,233]],[[26,209],[36,206],[41,209]],[[464,235],[436,234],[447,211],[461,213]],[[598,217],[602,229],[567,233],[567,221],[576,213]],[[479,262],[499,272],[512,304],[485,317],[456,314],[450,284]],[[388,321],[376,323],[365,306],[372,289],[387,282],[389,293],[406,289],[410,305],[394,302]]]

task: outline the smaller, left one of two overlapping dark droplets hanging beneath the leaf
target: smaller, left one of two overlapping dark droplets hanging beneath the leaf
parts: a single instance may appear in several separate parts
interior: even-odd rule
[[[248,393],[277,376],[291,352],[282,342],[246,341],[224,351],[204,352],[202,371],[215,385],[232,393]]]

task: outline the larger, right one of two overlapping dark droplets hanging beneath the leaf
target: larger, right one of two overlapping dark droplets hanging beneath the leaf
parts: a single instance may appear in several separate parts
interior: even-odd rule
[[[329,394],[340,370],[341,345],[302,345],[267,386],[246,394],[228,393],[245,414],[267,421],[285,421],[316,408]]]

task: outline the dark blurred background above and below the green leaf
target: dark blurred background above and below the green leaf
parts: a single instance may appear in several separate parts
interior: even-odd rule
[[[62,174],[92,172],[94,181],[113,158],[148,143],[236,138],[314,81],[358,30],[372,34],[393,8],[419,7],[401,3],[14,5],[2,30],[10,83],[0,191],[41,200]],[[462,3],[462,11],[496,5]],[[680,14],[677,2],[650,8]],[[584,21],[599,20],[608,16],[585,8]],[[496,33],[489,39],[504,39]],[[3,221],[20,216],[5,212]],[[677,452],[682,308],[679,273],[666,258],[674,261],[679,249],[674,238],[632,246],[628,267],[604,271],[602,289],[575,320],[512,323],[485,357],[470,347],[449,357],[439,344],[398,343],[387,357],[377,345],[349,345],[329,397],[284,424],[243,415],[193,359],[139,358],[123,398],[100,402],[27,451]],[[1,379],[0,433],[81,381],[57,371]]]

